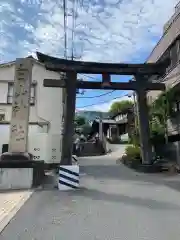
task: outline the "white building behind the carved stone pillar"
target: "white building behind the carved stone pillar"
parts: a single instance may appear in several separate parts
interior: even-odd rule
[[[29,151],[38,155],[35,156],[35,159],[50,163],[53,158],[59,162],[63,90],[61,88],[46,88],[43,86],[43,80],[45,78],[60,79],[61,75],[46,70],[44,65],[34,58],[33,61]],[[0,152],[2,152],[2,145],[9,141],[14,75],[15,62],[0,65]]]

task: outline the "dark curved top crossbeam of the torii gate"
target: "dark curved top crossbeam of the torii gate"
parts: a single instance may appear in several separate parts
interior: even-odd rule
[[[40,62],[45,63],[48,70],[58,72],[91,73],[91,74],[114,74],[114,75],[159,75],[164,74],[167,62],[145,63],[145,64],[124,64],[124,63],[97,63],[72,61],[37,52]]]

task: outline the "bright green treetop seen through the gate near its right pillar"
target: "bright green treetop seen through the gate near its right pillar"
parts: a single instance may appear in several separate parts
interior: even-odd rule
[[[110,107],[110,112],[113,114],[127,111],[133,107],[133,102],[130,100],[123,100],[114,102]]]

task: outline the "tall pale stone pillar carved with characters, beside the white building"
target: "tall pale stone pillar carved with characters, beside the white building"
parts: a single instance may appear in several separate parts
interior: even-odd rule
[[[28,125],[32,82],[32,60],[17,59],[10,127],[9,152],[28,151]]]

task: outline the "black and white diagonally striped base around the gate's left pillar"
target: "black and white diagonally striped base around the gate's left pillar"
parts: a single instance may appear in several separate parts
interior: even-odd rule
[[[61,191],[73,190],[79,188],[79,166],[60,166],[58,189]]]

